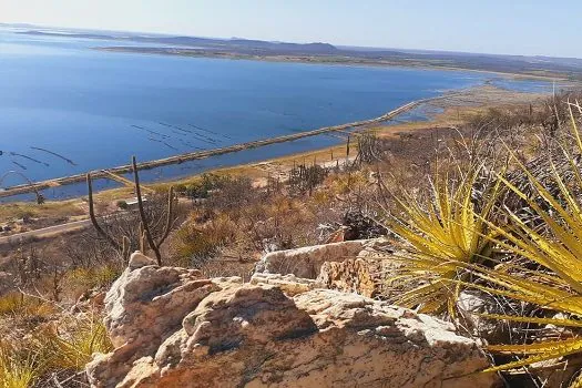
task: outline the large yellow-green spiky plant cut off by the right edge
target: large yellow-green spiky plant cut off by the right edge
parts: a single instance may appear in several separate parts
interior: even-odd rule
[[[573,106],[581,110],[579,104]],[[576,153],[582,153],[582,141],[572,114],[572,105],[570,109]],[[545,178],[542,184],[541,178],[534,176],[517,160],[517,165],[533,187],[533,195],[525,195],[523,190],[499,176],[499,181],[527,203],[543,223],[543,233],[510,210],[506,212],[517,226],[512,231],[487,221],[488,226],[497,233],[497,237],[490,238],[492,243],[514,257],[525,258],[537,266],[519,268],[507,265],[496,269],[466,266],[468,273],[482,279],[483,283],[464,285],[537,305],[540,310],[547,312],[542,317],[488,315],[489,318],[569,327],[572,334],[558,339],[530,338],[524,344],[489,346],[489,350],[494,353],[524,356],[522,359],[490,370],[508,370],[582,353],[582,336],[580,336],[582,334],[582,203],[578,194],[582,190],[582,175],[575,163],[575,155],[565,149],[563,152],[571,165],[573,178],[570,182],[564,182],[555,166],[551,164],[551,180]],[[550,191],[549,181],[558,190]]]

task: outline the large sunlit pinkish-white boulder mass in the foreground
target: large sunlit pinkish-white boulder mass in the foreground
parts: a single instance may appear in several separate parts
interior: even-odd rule
[[[93,387],[492,387],[477,344],[451,325],[314,282],[203,279],[127,268],[105,298],[115,349]],[[286,294],[284,289],[288,289]],[[294,296],[290,296],[294,295]]]

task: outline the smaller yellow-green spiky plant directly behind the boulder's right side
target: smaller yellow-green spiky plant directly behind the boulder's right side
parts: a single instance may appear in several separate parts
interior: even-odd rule
[[[486,194],[488,200],[476,208],[473,187],[480,169],[449,188],[447,180],[436,180],[430,200],[422,205],[412,195],[397,198],[402,212],[388,227],[404,241],[401,267],[392,284],[416,284],[399,295],[396,304],[421,313],[455,314],[459,287],[451,280],[463,279],[463,264],[483,263],[492,253],[496,232],[487,221],[496,203],[499,184]]]

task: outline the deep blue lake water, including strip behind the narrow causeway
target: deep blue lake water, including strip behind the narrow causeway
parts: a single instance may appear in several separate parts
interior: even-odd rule
[[[525,91],[550,88],[540,81],[463,71],[93,50],[105,45],[119,42],[0,30],[0,176],[19,171],[40,181],[127,164],[131,155],[149,161],[290,134],[375,118],[412,100],[487,81]],[[338,141],[309,137],[165,166],[144,172],[143,177],[191,175]],[[20,183],[22,177],[9,174],[0,187]],[[75,185],[47,194],[83,192],[82,185]]]

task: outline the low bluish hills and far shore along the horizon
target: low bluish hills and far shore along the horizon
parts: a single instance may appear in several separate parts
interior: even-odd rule
[[[447,51],[423,51],[381,48],[336,47],[330,43],[288,43],[242,38],[218,39],[173,37],[163,34],[34,28],[30,24],[2,24],[29,35],[83,38],[108,41],[103,49],[172,55],[234,57],[276,59],[325,63],[377,65],[425,65],[498,71],[532,75],[552,75],[582,80],[582,59],[479,54]],[[115,42],[111,44],[111,42]],[[123,42],[145,43],[143,47]],[[118,44],[119,43],[119,44]]]

